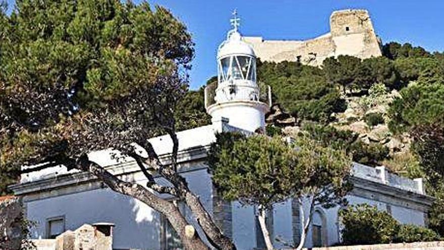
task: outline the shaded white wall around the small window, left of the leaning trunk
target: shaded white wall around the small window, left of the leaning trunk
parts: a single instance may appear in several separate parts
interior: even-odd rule
[[[109,189],[96,189],[27,203],[27,216],[37,222],[34,238],[45,238],[46,219],[65,216],[66,230],[85,223],[109,222],[114,228],[115,248],[159,246],[159,215],[134,198]]]

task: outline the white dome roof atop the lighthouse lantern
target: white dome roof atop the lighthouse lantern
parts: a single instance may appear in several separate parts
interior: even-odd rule
[[[227,36],[227,40],[219,45],[217,59],[233,55],[256,57],[253,48],[242,41],[242,36],[237,30],[231,30]]]

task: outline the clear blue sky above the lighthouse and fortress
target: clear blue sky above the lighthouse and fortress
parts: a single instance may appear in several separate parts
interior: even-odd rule
[[[133,0],[140,3],[139,0]],[[8,2],[12,2],[9,0]],[[191,88],[216,74],[215,55],[230,29],[233,9],[240,31],[264,39],[308,39],[329,31],[328,18],[340,9],[367,9],[383,43],[398,41],[444,51],[443,0],[153,0],[187,26],[196,43]]]

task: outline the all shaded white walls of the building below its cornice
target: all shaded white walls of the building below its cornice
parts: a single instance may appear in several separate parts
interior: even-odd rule
[[[201,202],[212,212],[212,184],[206,169],[186,172],[183,174],[188,180],[190,188],[199,194]],[[133,176],[143,184],[140,174]],[[131,179],[131,178],[130,178]],[[372,201],[358,196],[348,196],[350,204],[366,203],[386,210],[386,204]],[[308,203],[304,204],[308,211]],[[420,211],[391,206],[392,215],[401,223],[424,225],[424,215]],[[338,211],[339,207],[322,209],[326,217],[327,242],[329,245],[339,241]],[[238,202],[232,203],[232,230],[238,249],[252,249],[256,247],[256,217],[251,206],[241,206]],[[109,189],[95,189],[51,198],[40,199],[27,203],[27,215],[30,220],[36,221],[38,226],[32,231],[34,238],[45,238],[46,219],[65,216],[66,230],[74,230],[84,223],[110,222],[116,224],[114,231],[115,248],[152,248],[159,246],[160,216],[148,206],[134,198],[118,194]],[[191,213],[186,213],[190,223],[196,223]],[[301,218],[302,220],[302,218]],[[292,208],[291,202],[273,206],[273,239],[280,236],[284,241],[291,243]],[[198,227],[197,227],[198,228]],[[199,229],[198,229],[199,230]],[[199,232],[200,235],[201,232]],[[283,247],[282,243],[274,241],[276,247]],[[311,230],[306,238],[306,247],[312,245]]]

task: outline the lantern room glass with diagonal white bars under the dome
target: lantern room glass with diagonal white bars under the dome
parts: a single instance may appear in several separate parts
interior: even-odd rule
[[[228,80],[256,81],[256,60],[248,56],[229,56],[219,61],[219,82]]]

